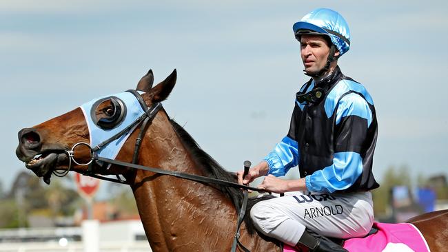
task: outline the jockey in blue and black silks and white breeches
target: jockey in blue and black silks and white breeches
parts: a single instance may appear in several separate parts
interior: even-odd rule
[[[265,176],[259,188],[294,191],[254,205],[250,216],[261,233],[311,251],[346,251],[326,237],[363,237],[374,222],[374,103],[338,67],[350,47],[349,27],[338,12],[312,10],[293,30],[311,78],[296,94],[287,135],[247,176],[238,171],[238,182]],[[300,179],[276,178],[297,165]]]

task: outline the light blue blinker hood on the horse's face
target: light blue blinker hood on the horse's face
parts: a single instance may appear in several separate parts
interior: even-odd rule
[[[143,94],[143,92],[139,93]],[[90,111],[92,110],[92,107],[94,103],[96,103],[96,101],[99,101],[102,98],[108,98],[112,96],[118,97],[121,99],[121,101],[123,101],[123,103],[126,106],[126,114],[125,117],[121,120],[121,122],[117,123],[117,125],[112,129],[101,129],[101,127],[98,127],[98,125],[94,123]],[[131,125],[137,118],[145,114],[143,108],[139,103],[139,100],[137,100],[134,94],[130,92],[123,92],[119,94],[112,94],[108,96],[95,98],[92,101],[89,101],[88,103],[84,103],[83,105],[80,106],[80,108],[83,111],[85,122],[88,125],[90,135],[90,146],[92,147],[95,147],[99,143],[108,140],[118,132],[121,132],[121,130],[125,129],[125,127],[128,127],[128,125]],[[136,125],[135,127],[137,126],[138,125]],[[135,127],[133,129],[130,129],[128,133],[123,134],[118,139],[113,140],[112,142],[108,143],[108,145],[105,145],[104,147],[96,151],[96,154],[98,154],[98,156],[103,158],[114,159],[116,155],[119,154],[121,147],[128,139],[130,134],[134,131]]]

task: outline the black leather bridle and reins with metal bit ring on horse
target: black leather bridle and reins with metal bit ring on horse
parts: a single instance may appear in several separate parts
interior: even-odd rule
[[[258,191],[260,193],[263,193],[265,191],[263,189],[258,189],[256,187],[250,187],[248,185],[240,185],[240,184],[238,184],[236,182],[230,182],[230,181],[227,181],[227,180],[219,180],[217,178],[209,178],[209,177],[205,177],[205,176],[198,176],[196,174],[185,174],[185,173],[179,172],[179,171],[167,171],[167,170],[163,170],[163,169],[159,169],[159,168],[146,167],[146,166],[143,166],[143,165],[136,164],[137,159],[139,157],[139,151],[140,151],[140,147],[141,147],[141,140],[143,139],[143,136],[145,136],[145,132],[147,130],[147,127],[150,125],[150,123],[152,122],[152,120],[154,119],[156,114],[160,111],[160,109],[162,108],[162,105],[161,105],[161,103],[154,103],[154,104],[151,105],[151,107],[147,107],[145,101],[143,100],[143,98],[141,97],[139,92],[136,92],[136,90],[127,90],[126,92],[130,92],[131,94],[134,94],[134,96],[139,101],[139,103],[140,103],[140,105],[143,108],[143,111],[145,113],[143,113],[141,116],[139,116],[139,118],[136,118],[136,120],[134,120],[134,122],[132,122],[130,125],[128,125],[124,129],[122,129],[120,132],[114,134],[114,136],[108,138],[107,140],[104,140],[103,142],[99,143],[95,147],[90,146],[90,144],[88,144],[88,143],[80,142],[80,143],[76,143],[75,145],[73,145],[72,149],[65,150],[65,153],[68,155],[68,159],[69,159],[68,169],[63,171],[63,172],[53,171],[53,173],[55,175],[57,175],[57,176],[65,176],[65,175],[67,175],[68,171],[70,171],[70,169],[71,169],[72,162],[74,162],[76,165],[80,165],[80,166],[88,165],[87,171],[82,173],[85,176],[91,176],[93,178],[99,178],[101,180],[108,180],[108,181],[112,181],[112,182],[119,182],[121,184],[129,185],[129,182],[127,180],[121,179],[119,175],[116,175],[116,179],[103,176],[102,173],[105,170],[108,169],[107,168],[108,166],[110,166],[110,165],[118,165],[118,166],[121,166],[121,167],[128,167],[128,168],[132,168],[132,169],[142,169],[142,170],[145,170],[145,171],[152,171],[155,174],[170,175],[170,176],[174,176],[176,178],[183,178],[183,179],[193,180],[193,181],[196,181],[196,182],[201,182],[201,183],[206,183],[206,184],[221,185],[221,186],[224,186],[224,187],[235,187],[235,188],[238,188],[238,189],[244,189],[243,190],[243,202],[241,204],[241,209],[240,209],[240,212],[238,214],[237,229],[236,229],[236,233],[234,234],[234,242],[232,244],[232,250],[231,251],[236,251],[236,247],[239,246],[240,249],[242,249],[243,251],[250,252],[238,240],[238,238],[240,237],[240,227],[241,227],[241,224],[243,223],[243,219],[244,219],[244,216],[245,216],[245,211],[246,211],[246,208],[247,208],[247,200],[248,200],[248,191],[247,190]],[[136,141],[135,141],[135,147],[134,147],[134,154],[132,156],[132,162],[123,162],[123,161],[114,160],[114,159],[110,159],[110,158],[103,158],[103,157],[99,156],[96,153],[96,151],[99,151],[101,148],[105,147],[105,145],[108,145],[108,143],[111,143],[113,140],[116,140],[116,139],[120,138],[121,136],[123,136],[125,134],[129,134],[130,131],[134,127],[136,127],[137,125],[140,125],[140,129],[139,129],[140,132],[139,132],[139,136],[137,136]],[[90,160],[88,162],[85,162],[85,163],[78,162],[74,158],[74,150],[77,147],[83,146],[83,145],[90,149]],[[97,165],[99,165],[101,167],[101,169],[103,169],[102,171],[100,171],[100,173],[96,173],[96,171],[94,171],[94,167],[93,166],[94,166],[95,163]],[[249,171],[250,162],[249,161],[245,161],[245,165],[244,166],[245,166],[245,173],[244,173],[243,177]]]

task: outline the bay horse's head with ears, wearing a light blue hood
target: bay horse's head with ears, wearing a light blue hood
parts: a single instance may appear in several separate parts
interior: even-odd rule
[[[155,87],[152,87],[153,81],[154,76],[150,70],[137,84],[138,94],[123,92],[96,98],[45,123],[21,129],[17,157],[47,183],[50,183],[50,176],[54,171],[68,171],[71,168],[85,173],[88,166],[82,164],[92,160],[88,146],[99,145],[117,132],[125,131],[146,114],[147,107],[165,100],[176,83],[176,70]],[[143,101],[139,101],[139,97]],[[97,154],[115,158],[135,127],[128,134],[121,135],[97,150]],[[73,162],[70,155],[74,156]]]

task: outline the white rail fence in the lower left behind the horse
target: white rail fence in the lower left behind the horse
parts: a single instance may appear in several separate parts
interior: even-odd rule
[[[144,240],[140,240],[144,239]],[[0,252],[140,252],[151,251],[139,220],[81,227],[0,230]]]

